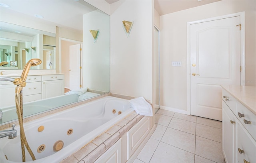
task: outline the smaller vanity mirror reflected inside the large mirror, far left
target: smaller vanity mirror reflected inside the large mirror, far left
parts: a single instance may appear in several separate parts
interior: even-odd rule
[[[8,62],[0,66],[0,70],[20,70],[32,58],[40,58],[42,65],[33,69],[53,69],[46,67],[48,60],[45,60],[44,45],[56,47],[56,36],[54,33],[40,31],[23,26],[17,26],[6,22],[0,22],[0,62]],[[4,55],[5,54],[5,55]],[[54,53],[52,53],[54,57]]]

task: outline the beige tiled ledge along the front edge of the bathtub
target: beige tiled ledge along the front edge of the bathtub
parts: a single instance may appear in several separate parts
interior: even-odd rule
[[[139,122],[144,116],[135,111],[114,126],[106,130],[90,143],[64,159],[61,163],[92,163],[120,139],[130,128]]]

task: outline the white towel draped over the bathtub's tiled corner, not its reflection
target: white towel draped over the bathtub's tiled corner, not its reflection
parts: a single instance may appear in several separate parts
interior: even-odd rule
[[[152,107],[144,97],[134,98],[128,102],[130,103],[130,106],[134,108],[137,114],[142,116],[153,116]]]

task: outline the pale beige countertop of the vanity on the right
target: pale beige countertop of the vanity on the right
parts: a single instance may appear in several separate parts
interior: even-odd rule
[[[256,86],[221,85],[236,100],[256,114]]]

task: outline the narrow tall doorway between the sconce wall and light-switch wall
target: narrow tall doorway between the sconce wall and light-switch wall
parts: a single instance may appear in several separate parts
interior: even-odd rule
[[[160,35],[160,30],[155,26],[154,27],[154,72],[155,72],[155,106],[154,110],[155,113],[160,109],[160,51],[159,51],[159,35]]]

